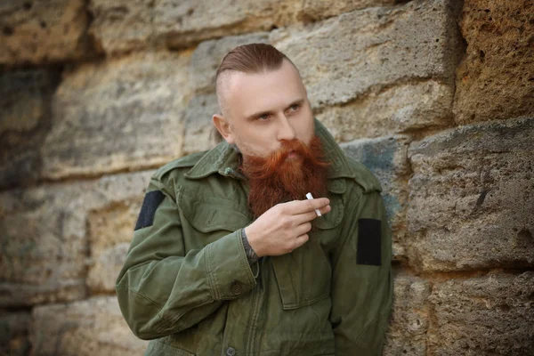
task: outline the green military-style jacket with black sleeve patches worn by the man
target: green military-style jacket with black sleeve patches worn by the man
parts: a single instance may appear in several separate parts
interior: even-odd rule
[[[315,127],[332,161],[332,210],[302,247],[252,266],[248,187],[230,145],[153,175],[116,286],[135,336],[153,339],[147,355],[381,354],[392,241],[380,184]]]

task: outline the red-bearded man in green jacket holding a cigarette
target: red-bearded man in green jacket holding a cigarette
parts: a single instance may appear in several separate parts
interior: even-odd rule
[[[228,53],[216,90],[223,142],[153,175],[117,279],[146,354],[380,354],[392,242],[379,182],[313,119],[271,45]]]

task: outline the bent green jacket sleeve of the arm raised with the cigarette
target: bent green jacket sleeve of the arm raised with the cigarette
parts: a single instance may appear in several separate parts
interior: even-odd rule
[[[256,284],[240,230],[187,251],[173,190],[153,179],[147,191],[116,284],[128,326],[146,340],[190,328]]]

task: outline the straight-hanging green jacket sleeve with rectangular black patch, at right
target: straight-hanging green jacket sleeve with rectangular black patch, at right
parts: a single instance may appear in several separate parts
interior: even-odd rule
[[[332,256],[336,355],[381,355],[392,306],[392,238],[378,191],[347,206]]]

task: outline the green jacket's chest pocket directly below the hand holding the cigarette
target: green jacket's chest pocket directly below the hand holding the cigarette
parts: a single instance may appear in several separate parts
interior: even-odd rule
[[[284,310],[317,303],[330,295],[332,267],[327,246],[336,239],[344,214],[341,198],[330,198],[330,206],[330,213],[314,220],[308,242],[290,254],[272,258]]]

